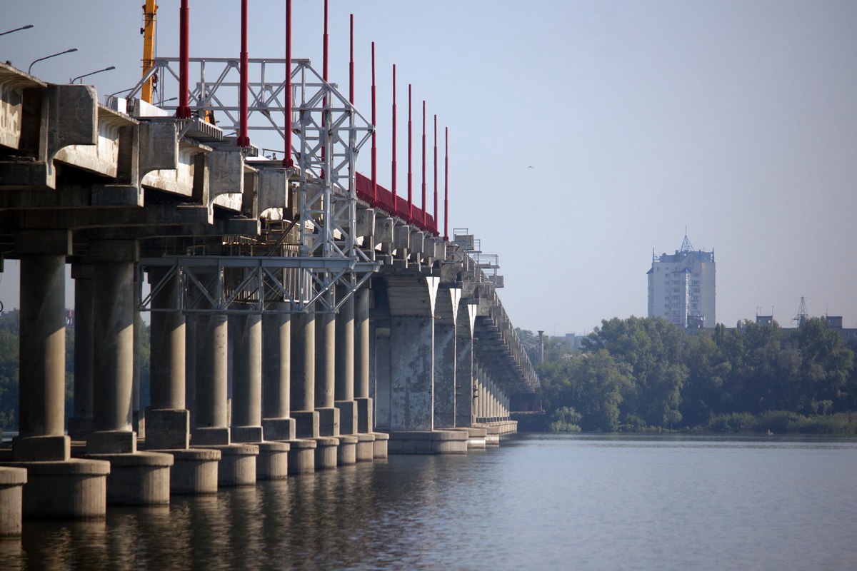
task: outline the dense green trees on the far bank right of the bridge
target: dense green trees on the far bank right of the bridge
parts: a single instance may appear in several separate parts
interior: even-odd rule
[[[536,371],[554,431],[857,431],[854,347],[822,318],[692,332],[613,318],[578,351],[546,339]]]

